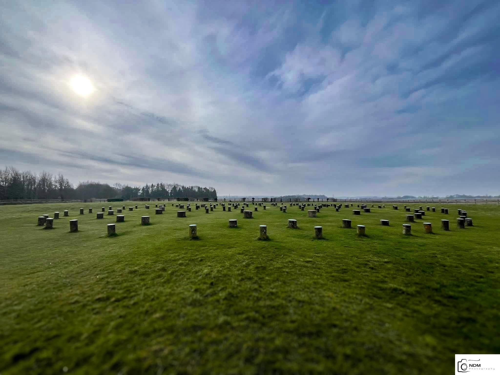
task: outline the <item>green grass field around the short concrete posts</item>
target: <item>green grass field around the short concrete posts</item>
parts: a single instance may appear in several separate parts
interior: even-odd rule
[[[113,237],[115,216],[95,212],[121,202],[92,203],[92,214],[89,203],[0,206],[2,375],[444,374],[455,353],[500,353],[497,205],[445,205],[448,215],[426,212],[405,236],[402,204],[360,216],[323,208],[316,218],[267,205],[243,219],[193,203],[186,218],[171,202],[155,215],[151,203],[123,211]],[[474,226],[456,228],[456,208]],[[54,229],[36,226],[54,211]],[[268,241],[256,240],[259,224]],[[325,239],[314,239],[314,225]]]

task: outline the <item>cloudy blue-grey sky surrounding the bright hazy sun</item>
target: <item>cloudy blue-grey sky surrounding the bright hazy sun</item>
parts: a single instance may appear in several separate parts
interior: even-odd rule
[[[0,165],[232,195],[500,194],[500,1],[0,14]]]

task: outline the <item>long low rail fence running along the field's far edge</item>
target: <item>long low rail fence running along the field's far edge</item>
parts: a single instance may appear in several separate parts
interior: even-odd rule
[[[35,204],[35,203],[91,203],[91,202],[106,202],[107,199],[4,199],[0,200],[0,205],[6,204]],[[170,201],[176,202],[176,198],[130,198],[123,199],[123,201]],[[180,200],[183,201],[183,200]],[[203,202],[204,199],[199,198],[189,198],[189,201],[199,201]],[[214,199],[209,199],[208,201],[215,201]],[[222,198],[217,199],[219,202],[376,202],[376,203],[447,203],[447,204],[500,204],[500,199],[338,199],[338,198],[296,198],[296,199],[280,199],[280,198],[258,198],[258,199],[248,199],[248,198]],[[114,202],[110,202],[114,203]]]

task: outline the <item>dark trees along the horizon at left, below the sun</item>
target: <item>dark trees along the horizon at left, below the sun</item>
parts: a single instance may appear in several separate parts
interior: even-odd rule
[[[107,199],[107,198],[209,198],[217,199],[213,187],[184,186],[178,183],[151,183],[113,186],[95,181],[78,182],[76,187],[64,177],[42,171],[39,174],[14,167],[0,169],[0,199]]]

